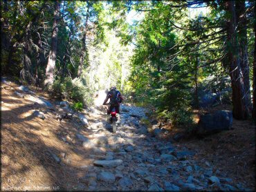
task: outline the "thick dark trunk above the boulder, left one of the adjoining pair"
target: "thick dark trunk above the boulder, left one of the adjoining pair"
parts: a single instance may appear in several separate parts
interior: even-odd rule
[[[228,10],[228,62],[232,86],[233,117],[247,119],[249,115],[246,105],[244,76],[241,71],[236,32],[235,1],[226,1]]]

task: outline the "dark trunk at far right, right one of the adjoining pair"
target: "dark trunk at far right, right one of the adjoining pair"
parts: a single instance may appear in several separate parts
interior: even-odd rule
[[[250,97],[250,77],[248,64],[248,41],[247,41],[247,21],[246,21],[246,2],[245,0],[235,1],[235,11],[237,14],[237,35],[239,41],[239,58],[241,64],[241,71],[244,76],[244,89],[246,98],[246,108],[252,108]]]

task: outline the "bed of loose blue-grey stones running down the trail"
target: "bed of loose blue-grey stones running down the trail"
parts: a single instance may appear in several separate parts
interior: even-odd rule
[[[171,142],[152,137],[140,124],[142,118],[147,118],[145,109],[122,105],[115,134],[104,120],[91,126],[93,139],[83,144],[94,147],[95,160],[80,180],[85,187],[102,191],[235,189],[228,184],[231,179],[218,170],[214,173],[209,162],[193,160],[196,151],[179,151]],[[102,151],[103,156],[97,155]]]

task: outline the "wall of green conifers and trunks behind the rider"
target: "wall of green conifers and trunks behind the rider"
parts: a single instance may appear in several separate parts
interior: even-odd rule
[[[176,126],[209,97],[256,119],[255,15],[255,1],[4,0],[1,71],[75,106],[116,84]]]

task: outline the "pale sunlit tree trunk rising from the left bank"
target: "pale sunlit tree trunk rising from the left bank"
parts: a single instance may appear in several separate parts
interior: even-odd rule
[[[53,21],[53,34],[51,38],[51,50],[48,56],[48,64],[46,66],[46,79],[44,80],[44,86],[53,85],[54,80],[54,70],[55,70],[55,62],[57,55],[57,23],[60,17],[60,3],[59,1],[55,1],[55,12],[54,12],[54,21]]]

